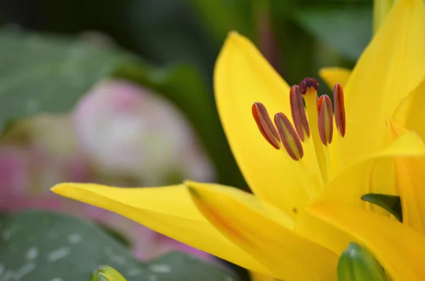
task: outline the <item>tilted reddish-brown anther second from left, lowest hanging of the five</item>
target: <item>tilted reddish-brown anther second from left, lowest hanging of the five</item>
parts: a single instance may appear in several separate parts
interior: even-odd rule
[[[288,117],[282,112],[279,112],[275,114],[274,121],[276,128],[278,128],[280,141],[288,155],[295,161],[301,160],[304,156],[301,140],[295,128],[290,124]]]

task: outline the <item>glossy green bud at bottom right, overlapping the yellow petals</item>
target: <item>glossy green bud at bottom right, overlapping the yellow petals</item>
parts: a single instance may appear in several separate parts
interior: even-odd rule
[[[339,281],[389,281],[380,263],[356,243],[350,243],[338,263]]]

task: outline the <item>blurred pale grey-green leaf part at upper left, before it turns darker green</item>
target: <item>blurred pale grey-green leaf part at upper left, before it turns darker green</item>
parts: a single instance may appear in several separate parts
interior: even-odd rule
[[[64,112],[132,58],[83,40],[0,31],[0,131],[11,119]]]

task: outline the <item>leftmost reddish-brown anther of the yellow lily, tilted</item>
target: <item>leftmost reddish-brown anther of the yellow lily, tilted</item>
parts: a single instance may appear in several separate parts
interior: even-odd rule
[[[280,138],[278,131],[276,131],[273,122],[268,116],[266,107],[261,102],[255,102],[252,104],[252,116],[259,127],[259,130],[263,137],[270,143],[273,148],[280,149]]]

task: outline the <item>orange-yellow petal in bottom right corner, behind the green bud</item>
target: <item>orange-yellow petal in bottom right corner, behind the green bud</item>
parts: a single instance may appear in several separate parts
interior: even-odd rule
[[[394,281],[425,280],[425,237],[385,216],[344,205],[321,203],[310,212],[348,232],[373,253]]]

